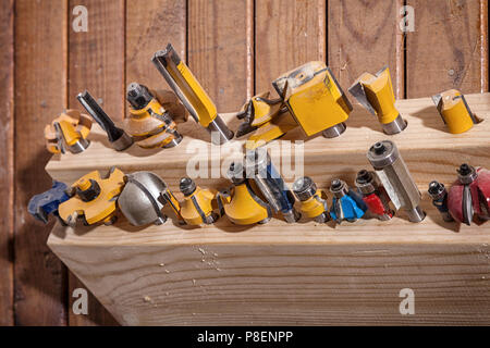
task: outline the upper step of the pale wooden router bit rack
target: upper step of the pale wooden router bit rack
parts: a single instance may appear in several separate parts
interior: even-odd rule
[[[466,100],[473,112],[483,119],[490,117],[489,94],[466,95]],[[482,122],[464,134],[453,135],[448,132],[430,98],[399,100],[396,107],[408,122],[408,127],[397,135],[390,136],[390,139],[396,142],[415,181],[422,187],[436,178],[451,183],[455,177],[455,169],[465,161],[490,167],[488,142],[490,123]],[[233,117],[233,114],[223,114],[224,121]],[[346,123],[347,129],[338,138],[326,139],[317,136],[304,142],[305,175],[311,176],[320,187],[329,187],[330,179],[335,176],[352,183],[356,171],[369,167],[366,159],[368,148],[376,141],[387,138],[378,122],[373,121],[372,115],[360,105],[354,105],[354,111]],[[231,128],[235,129],[236,123],[230,124]],[[96,134],[99,130],[93,132]],[[424,134],[424,141],[420,141],[420,134]],[[292,149],[294,154],[294,148],[289,141],[297,139],[304,139],[299,129],[275,140],[273,146]],[[243,145],[243,141],[235,139],[221,149],[222,166],[224,161],[240,157]],[[204,157],[206,156],[204,151],[210,156],[212,149],[205,138],[198,140],[184,137],[182,142],[172,149],[149,151],[132,147],[114,156],[114,151],[107,142],[97,142],[81,154],[66,153],[61,159],[53,159],[46,170],[52,177],[68,183],[75,182],[88,171],[96,169],[108,171],[112,165],[123,172],[154,171],[161,175],[172,189],[179,190],[179,179],[187,171],[187,161],[196,159],[197,150],[203,151],[199,153]],[[281,157],[275,151],[271,151],[271,156],[277,166],[289,158],[287,154]],[[204,164],[210,163],[206,158],[204,161]],[[220,178],[198,178],[198,183],[220,188],[228,185],[222,173],[223,169]],[[211,172],[208,172],[208,177],[210,174]],[[294,177],[286,179],[291,182]]]

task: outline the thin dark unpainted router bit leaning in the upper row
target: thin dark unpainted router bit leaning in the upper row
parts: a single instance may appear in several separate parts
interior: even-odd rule
[[[79,103],[87,110],[90,116],[107,133],[109,142],[117,151],[123,151],[133,145],[133,138],[123,129],[118,128],[102,108],[95,101],[90,94],[85,90],[76,96]]]

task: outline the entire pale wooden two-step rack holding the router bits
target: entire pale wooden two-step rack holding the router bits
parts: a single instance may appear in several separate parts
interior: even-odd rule
[[[475,113],[490,117],[490,94],[466,97]],[[112,226],[56,226],[48,245],[125,325],[489,324],[490,228],[444,223],[425,191],[434,178],[452,183],[464,161],[490,167],[490,125],[455,136],[429,98],[397,107],[408,128],[390,138],[424,192],[427,217],[420,224],[400,213],[390,222],[336,227],[277,219],[236,226],[221,219],[203,228],[179,227],[173,220],[143,228],[121,216]],[[371,115],[355,108],[341,137],[305,142],[305,174],[322,188],[334,176],[352,184],[368,167],[369,145],[385,137]],[[123,171],[154,171],[175,189],[192,140],[208,146],[189,137],[149,156],[137,148],[114,156],[94,144],[50,161],[47,171],[65,178],[87,172],[83,163],[91,170],[117,162]],[[225,179],[198,183],[220,187]],[[416,315],[400,314],[403,288],[415,291]]]

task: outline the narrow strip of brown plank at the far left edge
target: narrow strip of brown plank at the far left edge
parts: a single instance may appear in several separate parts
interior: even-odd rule
[[[13,325],[13,0],[5,1],[0,8],[0,326]]]

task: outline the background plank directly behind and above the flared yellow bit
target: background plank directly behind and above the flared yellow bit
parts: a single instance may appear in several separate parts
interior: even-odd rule
[[[404,96],[402,0],[328,1],[328,63],[346,92],[363,73],[390,67],[396,98]]]

